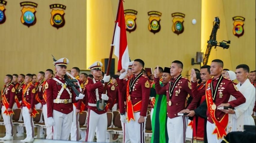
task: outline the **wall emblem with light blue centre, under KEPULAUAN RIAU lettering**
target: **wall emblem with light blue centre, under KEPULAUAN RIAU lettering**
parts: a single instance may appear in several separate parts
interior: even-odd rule
[[[20,6],[22,7],[22,15],[21,15],[21,23],[26,26],[32,26],[36,23],[36,16],[35,16],[35,7],[37,7],[37,4],[30,1],[24,1],[20,3]],[[25,7],[30,6],[30,7]]]

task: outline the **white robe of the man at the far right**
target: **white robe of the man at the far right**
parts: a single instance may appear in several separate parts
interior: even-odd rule
[[[232,131],[242,131],[244,125],[255,125],[251,116],[256,98],[255,88],[249,79],[246,79],[242,85],[239,82],[236,87],[243,94],[246,101],[235,107],[235,114],[229,114],[227,133]],[[234,100],[235,97],[230,96],[230,99]]]

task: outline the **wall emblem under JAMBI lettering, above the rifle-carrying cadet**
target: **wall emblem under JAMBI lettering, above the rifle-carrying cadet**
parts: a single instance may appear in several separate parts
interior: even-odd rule
[[[65,25],[64,10],[66,10],[66,6],[62,4],[51,4],[50,9],[53,9],[51,11],[51,25],[57,29],[63,27]]]

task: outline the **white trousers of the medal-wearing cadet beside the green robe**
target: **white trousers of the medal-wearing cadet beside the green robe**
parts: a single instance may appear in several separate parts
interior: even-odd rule
[[[188,126],[188,117],[178,116],[167,119],[167,133],[169,143],[185,143],[186,129]]]

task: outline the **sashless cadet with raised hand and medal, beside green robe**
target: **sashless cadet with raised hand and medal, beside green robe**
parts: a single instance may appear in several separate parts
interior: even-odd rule
[[[185,109],[187,95],[191,93],[191,83],[187,78],[181,76],[183,64],[181,61],[173,61],[170,66],[170,74],[173,79],[161,87],[158,74],[155,74],[155,90],[157,94],[166,94],[167,96],[167,133],[169,143],[185,143],[185,133],[188,125],[188,117],[178,116],[179,112],[192,110],[193,104],[189,104]],[[195,98],[193,97],[193,100]],[[193,102],[192,100],[192,102]],[[192,103],[191,102],[191,103]],[[184,110],[185,109],[185,110]]]

